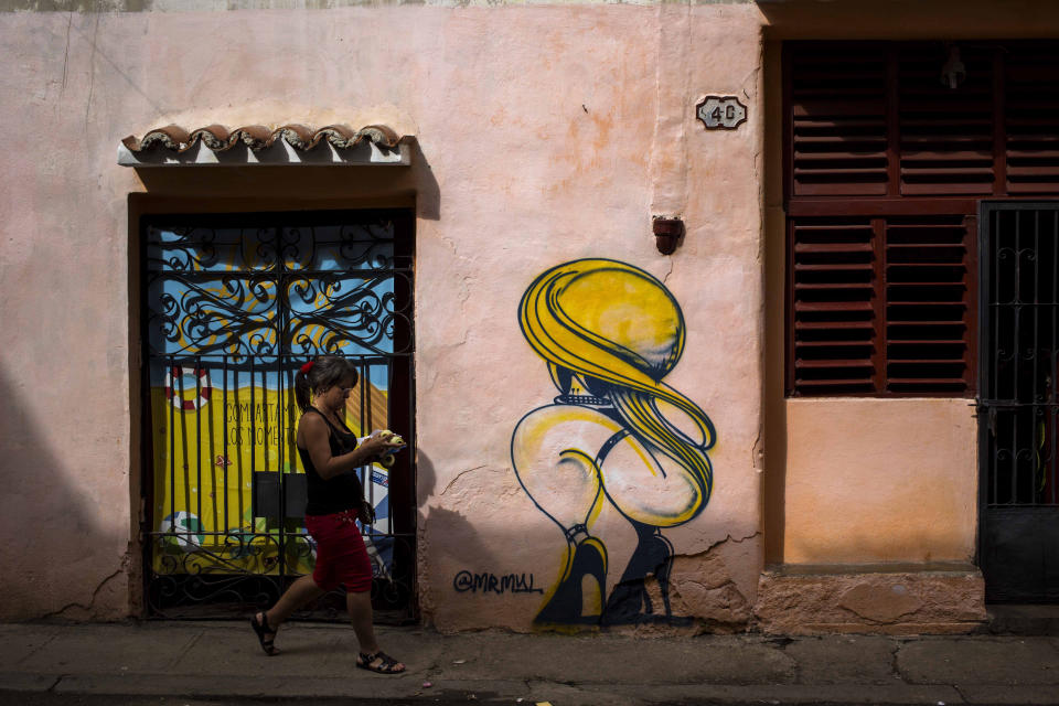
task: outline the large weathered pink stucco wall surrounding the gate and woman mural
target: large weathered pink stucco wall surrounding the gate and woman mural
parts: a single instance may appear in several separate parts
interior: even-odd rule
[[[517,304],[548,267],[607,257],[683,307],[666,383],[718,432],[709,504],[666,532],[674,610],[745,621],[761,561],[759,25],[752,4],[0,15],[0,618],[119,618],[139,591],[126,200],[148,189],[116,165],[119,139],[297,121],[414,135],[434,182],[417,195],[426,620],[527,629],[538,595],[457,593],[454,575],[555,579],[563,535],[510,456],[520,418],[555,394]],[[706,94],[739,96],[749,121],[706,132]],[[654,247],[657,213],[686,223],[673,257]],[[612,585],[633,537],[616,513],[599,523]]]

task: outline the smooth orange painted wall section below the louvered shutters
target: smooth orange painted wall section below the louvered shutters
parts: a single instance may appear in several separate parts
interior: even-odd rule
[[[787,400],[785,563],[970,560],[976,429],[969,399]]]

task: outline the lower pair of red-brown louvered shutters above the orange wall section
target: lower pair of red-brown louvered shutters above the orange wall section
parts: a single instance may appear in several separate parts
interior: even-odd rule
[[[790,220],[789,393],[972,388],[972,222],[962,215]]]

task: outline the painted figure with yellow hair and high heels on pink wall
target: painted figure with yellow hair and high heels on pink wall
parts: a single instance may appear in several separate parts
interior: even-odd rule
[[[713,488],[714,426],[662,379],[684,352],[684,315],[652,275],[617,260],[553,267],[523,295],[526,342],[559,392],[515,427],[518,482],[554,522],[560,569],[534,622],[631,624],[672,621],[673,546],[662,534],[702,513]],[[605,507],[635,531],[637,544],[607,595]],[[649,595],[657,582],[662,606]]]

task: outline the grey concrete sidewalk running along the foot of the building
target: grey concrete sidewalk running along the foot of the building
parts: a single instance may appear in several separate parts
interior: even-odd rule
[[[288,623],[0,625],[0,703],[19,695],[581,704],[1059,704],[1059,638],[634,638],[379,628],[409,671],[354,668],[351,628]],[[521,700],[520,700],[521,699]]]

